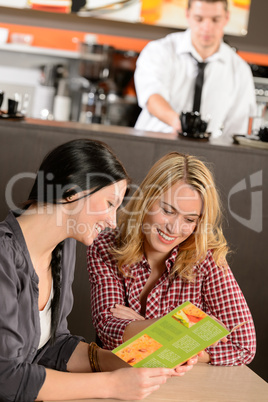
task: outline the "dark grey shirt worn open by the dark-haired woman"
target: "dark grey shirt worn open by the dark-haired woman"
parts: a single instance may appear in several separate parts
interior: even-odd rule
[[[74,239],[66,239],[62,255],[60,317],[56,342],[37,351],[40,339],[38,276],[13,212],[0,223],[0,401],[34,401],[45,367],[66,371],[82,338],[70,335],[75,268]]]

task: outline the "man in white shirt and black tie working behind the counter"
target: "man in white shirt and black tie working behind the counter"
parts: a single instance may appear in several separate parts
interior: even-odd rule
[[[141,52],[135,86],[143,109],[135,128],[176,132],[179,113],[193,111],[198,62],[205,62],[200,113],[212,137],[246,134],[256,108],[250,67],[222,40],[227,0],[189,0],[189,28],[150,42]]]

